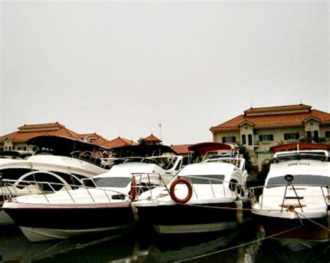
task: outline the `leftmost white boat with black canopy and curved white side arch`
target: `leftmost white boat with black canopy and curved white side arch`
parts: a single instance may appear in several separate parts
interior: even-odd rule
[[[82,179],[108,171],[102,167],[100,159],[100,154],[108,149],[97,144],[50,135],[34,137],[27,143],[38,146],[39,150],[24,159],[19,158],[22,155],[0,158],[0,206],[8,196],[49,191],[47,183],[79,186]],[[53,185],[52,190],[58,189]],[[0,225],[8,223],[14,222],[0,208]]]

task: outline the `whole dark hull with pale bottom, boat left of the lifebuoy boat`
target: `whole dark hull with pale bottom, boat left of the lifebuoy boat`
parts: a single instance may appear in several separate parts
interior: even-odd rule
[[[129,203],[120,205],[27,205],[4,207],[31,241],[66,239],[134,226]]]

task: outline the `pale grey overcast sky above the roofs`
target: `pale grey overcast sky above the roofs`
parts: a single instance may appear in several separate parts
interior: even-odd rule
[[[211,142],[251,107],[330,112],[329,1],[1,1],[0,135]],[[160,125],[159,125],[160,124]]]

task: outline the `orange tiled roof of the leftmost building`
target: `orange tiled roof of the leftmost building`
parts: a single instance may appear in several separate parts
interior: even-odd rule
[[[74,133],[74,131],[65,128],[65,126],[58,124],[58,122],[54,124],[24,125],[18,129],[14,133],[1,136],[0,142],[3,142],[6,138],[12,139],[13,142],[26,142],[28,139],[41,135],[56,135],[81,139],[78,133]]]

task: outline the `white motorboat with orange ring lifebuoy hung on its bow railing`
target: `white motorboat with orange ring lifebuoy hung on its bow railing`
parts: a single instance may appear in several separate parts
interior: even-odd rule
[[[228,144],[222,147],[233,150]],[[244,164],[238,155],[188,164],[171,183],[144,192],[132,203],[139,223],[164,234],[234,228],[244,220],[243,207],[249,205]]]

